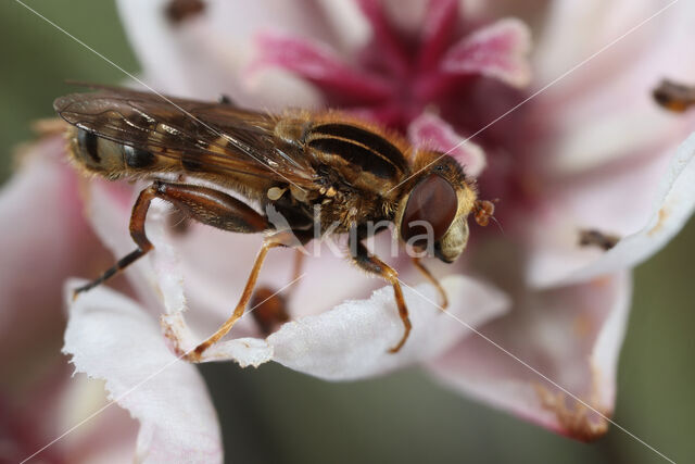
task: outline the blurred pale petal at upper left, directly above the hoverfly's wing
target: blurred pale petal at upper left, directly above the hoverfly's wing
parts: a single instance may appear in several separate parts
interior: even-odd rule
[[[344,34],[338,38],[325,21],[321,7],[314,2],[299,8],[282,0],[206,1],[199,16],[178,25],[165,17],[167,3],[121,0],[118,7],[149,84],[181,96],[215,99],[225,93],[242,105],[264,109],[314,106],[319,102],[316,91],[283,73],[264,73],[264,79],[255,81],[254,87],[244,87],[240,74],[253,53],[253,36],[270,29],[299,33],[337,47],[340,41],[364,41]],[[342,11],[344,22],[359,20],[354,11],[348,13],[349,8]],[[353,32],[358,29],[355,24]],[[365,36],[364,25],[362,30],[359,35]]]

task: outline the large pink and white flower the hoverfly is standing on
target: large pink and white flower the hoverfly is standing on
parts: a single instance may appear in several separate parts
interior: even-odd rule
[[[391,289],[369,297],[375,281],[321,249],[288,288],[292,322],[263,338],[244,317],[207,360],[273,360],[331,380],[422,363],[451,388],[557,432],[591,440],[607,430],[602,415],[615,404],[631,267],[675,235],[695,205],[695,138],[679,147],[694,116],[671,115],[650,99],[664,76],[695,72],[681,57],[695,9],[679,3],[544,88],[660,7],[558,0],[511,11],[507,3],[266,0],[240,9],[208,1],[172,22],[164,2],[119,2],[157,90],[227,93],[257,109],[340,106],[416,145],[452,150],[483,196],[500,198],[504,234],[471,225],[459,262],[433,266],[445,276],[451,317],[433,304],[432,286],[417,284],[405,263],[399,268],[412,285],[414,326],[401,352],[387,353],[402,330]],[[115,255],[132,249],[131,196],[103,181],[87,196],[88,218]],[[218,460],[200,378],[163,350],[156,317],[165,313],[179,348],[193,347],[228,316],[261,238],[197,225],[175,236],[164,227],[167,210],[153,210],[155,251],[126,273],[131,298],[106,287],[80,296],[64,350],[141,422],[140,453],[165,460],[157,453],[178,444],[191,461]],[[261,283],[290,283],[291,258],[274,250]],[[191,422],[184,419],[190,411],[163,415],[179,394],[200,405]],[[200,435],[182,442],[192,425]]]

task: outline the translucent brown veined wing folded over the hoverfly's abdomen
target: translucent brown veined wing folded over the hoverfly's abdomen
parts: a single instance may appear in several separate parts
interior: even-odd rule
[[[58,114],[100,137],[161,156],[186,153],[201,170],[315,186],[316,173],[303,151],[274,135],[276,120],[268,114],[226,103],[92,87],[98,90],[56,99]]]

